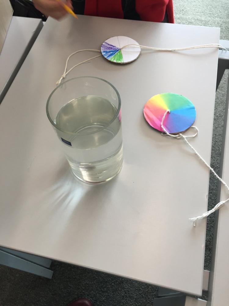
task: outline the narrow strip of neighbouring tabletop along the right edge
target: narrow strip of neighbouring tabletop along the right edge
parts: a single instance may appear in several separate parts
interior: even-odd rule
[[[227,89],[227,103],[226,103],[226,137],[224,144],[224,151],[222,152],[223,158],[221,158],[223,171],[222,178],[229,184],[229,115],[228,115],[228,101],[229,101],[229,79],[228,79],[228,89]],[[226,200],[228,198],[228,193],[226,188],[221,188],[220,200]],[[213,256],[213,269],[211,271],[210,277],[210,294],[209,294],[209,306],[222,306],[228,305],[228,284],[229,284],[229,266],[228,266],[228,256],[229,256],[229,203],[227,202],[220,210],[217,212],[217,227],[216,227],[216,237],[214,241],[215,252]]]

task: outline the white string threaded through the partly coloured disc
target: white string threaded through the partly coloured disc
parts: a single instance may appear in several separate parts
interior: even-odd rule
[[[123,46],[121,48],[124,49],[124,48],[128,48],[128,47],[132,47],[132,48],[141,48],[141,49],[149,49],[149,50],[155,50],[155,51],[182,51],[182,50],[190,50],[190,49],[198,49],[198,48],[218,48],[218,49],[223,49],[223,50],[226,50],[226,48],[224,48],[223,46],[221,46],[220,44],[217,44],[217,43],[211,43],[211,44],[206,44],[206,45],[199,45],[199,46],[193,46],[193,47],[186,47],[186,48],[177,48],[177,49],[161,49],[161,48],[154,48],[154,47],[147,47],[147,46],[141,46],[141,45],[138,45],[138,44],[130,44],[130,45],[126,45],[126,46]],[[69,57],[67,58],[67,61],[66,61],[66,65],[65,65],[65,69],[64,69],[64,73],[62,74],[62,76],[60,77],[60,79],[56,82],[57,85],[59,85],[61,83],[61,81],[66,77],[66,75],[72,70],[74,69],[75,67],[81,65],[81,64],[84,64],[86,62],[89,62],[91,60],[93,60],[94,58],[98,58],[100,57],[102,54],[100,55],[97,55],[97,56],[93,56],[92,58],[89,58],[83,62],[80,62],[78,64],[76,64],[75,66],[73,66],[71,69],[69,69],[67,72],[67,64],[68,64],[68,61],[70,59],[70,57],[78,52],[82,52],[82,51],[94,51],[94,52],[101,52],[100,50],[95,50],[95,49],[83,49],[83,50],[78,50],[78,51],[75,51],[73,52],[72,54],[69,55]]]

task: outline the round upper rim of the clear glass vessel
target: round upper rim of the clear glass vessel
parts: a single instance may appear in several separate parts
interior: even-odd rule
[[[120,98],[120,95],[117,91],[117,89],[115,88],[114,85],[112,85],[110,82],[108,82],[107,80],[104,80],[102,78],[99,78],[97,76],[77,76],[77,77],[74,77],[74,78],[71,78],[69,80],[66,80],[62,83],[60,83],[56,88],[53,89],[53,91],[50,93],[49,97],[48,97],[48,100],[47,100],[47,103],[46,103],[46,114],[47,114],[47,117],[50,121],[50,123],[59,131],[61,132],[64,132],[66,134],[70,134],[70,135],[76,135],[77,132],[69,132],[69,131],[65,131],[64,129],[60,129],[59,127],[57,127],[56,123],[53,121],[53,119],[51,118],[50,114],[49,114],[49,102],[50,102],[50,99],[52,98],[54,92],[62,85],[64,85],[65,83],[69,82],[69,81],[72,81],[72,80],[76,80],[76,79],[85,79],[85,78],[90,78],[90,79],[97,79],[97,80],[100,80],[100,81],[103,81],[105,83],[107,83],[108,85],[110,85],[114,90],[115,90],[115,93],[118,97],[118,108],[117,108],[117,111],[114,115],[114,117],[111,119],[111,121],[109,121],[104,127],[102,127],[101,129],[98,129],[97,131],[94,131],[94,132],[90,132],[88,134],[84,134],[84,135],[79,135],[79,136],[87,136],[87,135],[91,135],[91,134],[95,134],[95,133],[98,133],[100,131],[102,131],[103,129],[107,128],[109,125],[111,125],[112,122],[115,121],[115,119],[118,117],[118,114],[120,113],[120,110],[121,110],[121,98]],[[80,98],[80,97],[79,97]],[[77,98],[76,98],[77,99]],[[70,102],[70,101],[69,101]],[[67,102],[68,103],[68,102]],[[66,103],[66,104],[67,104]]]

